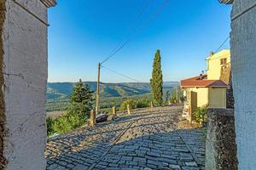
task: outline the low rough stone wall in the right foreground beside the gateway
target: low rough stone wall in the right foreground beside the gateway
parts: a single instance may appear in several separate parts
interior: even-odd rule
[[[209,109],[207,113],[206,170],[236,170],[234,111]]]

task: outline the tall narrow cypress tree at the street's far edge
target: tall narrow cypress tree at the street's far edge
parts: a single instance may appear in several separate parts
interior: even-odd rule
[[[154,54],[154,63],[152,78],[150,80],[151,93],[153,95],[154,104],[163,104],[163,75],[161,71],[161,57],[160,50],[158,49]]]

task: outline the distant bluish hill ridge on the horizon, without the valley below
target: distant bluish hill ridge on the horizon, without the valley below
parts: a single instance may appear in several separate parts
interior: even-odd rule
[[[84,82],[90,86],[92,91],[96,91],[96,82]],[[72,93],[74,82],[49,82],[47,84],[47,99],[66,100]],[[164,88],[177,87],[179,82],[164,82]],[[101,82],[100,94],[102,97],[127,97],[150,92],[149,82]]]

